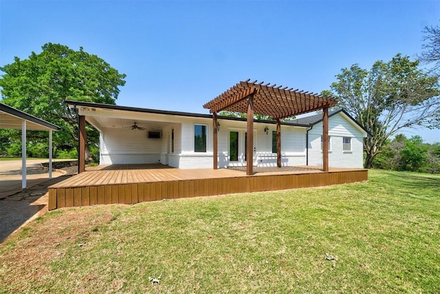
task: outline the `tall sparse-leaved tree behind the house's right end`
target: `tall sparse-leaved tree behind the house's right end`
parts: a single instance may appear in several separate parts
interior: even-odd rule
[[[331,84],[339,107],[371,134],[364,140],[364,167],[371,167],[386,140],[399,130],[438,123],[438,78],[418,65],[397,54],[391,61],[376,61],[371,70],[357,64],[344,68]]]

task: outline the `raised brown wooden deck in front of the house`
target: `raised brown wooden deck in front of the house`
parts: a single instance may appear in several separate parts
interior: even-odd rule
[[[89,168],[49,187],[49,210],[94,204],[135,204],[163,199],[214,196],[336,185],[368,180],[366,169],[245,167],[175,169],[164,165],[109,165]]]

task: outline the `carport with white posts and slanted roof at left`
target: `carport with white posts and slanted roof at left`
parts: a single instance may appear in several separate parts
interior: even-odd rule
[[[49,178],[52,178],[52,131],[61,127],[0,103],[0,129],[21,129],[21,187],[26,187],[26,130],[49,132]]]

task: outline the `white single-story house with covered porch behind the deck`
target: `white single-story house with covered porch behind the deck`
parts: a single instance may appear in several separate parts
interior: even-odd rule
[[[67,101],[100,132],[100,164],[162,163],[180,169],[212,168],[211,114],[170,112]],[[218,166],[246,165],[243,118],[217,117]],[[253,165],[276,167],[276,122],[254,120]],[[329,112],[329,166],[362,168],[367,132],[343,110]],[[322,165],[322,115],[281,122],[283,166]]]

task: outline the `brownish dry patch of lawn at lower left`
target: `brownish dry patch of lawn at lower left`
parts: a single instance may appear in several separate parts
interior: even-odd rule
[[[30,222],[0,246],[0,284],[9,285],[8,291],[26,292],[34,282],[56,278],[50,264],[111,222],[111,209],[59,209]],[[17,284],[17,276],[25,282]]]

